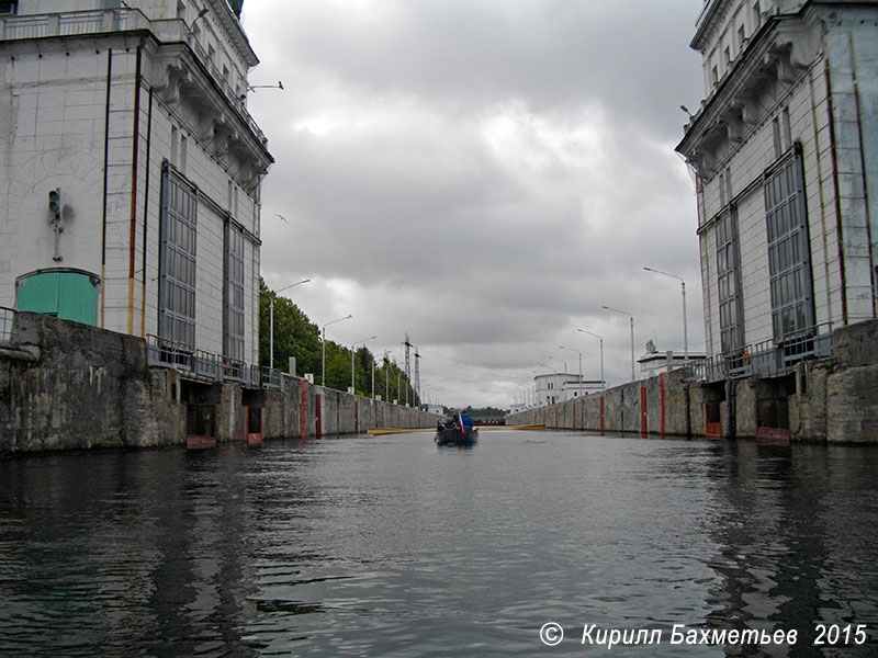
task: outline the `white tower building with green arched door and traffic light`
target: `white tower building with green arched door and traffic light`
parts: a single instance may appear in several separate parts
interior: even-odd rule
[[[258,362],[272,158],[234,4],[0,3],[0,305]]]

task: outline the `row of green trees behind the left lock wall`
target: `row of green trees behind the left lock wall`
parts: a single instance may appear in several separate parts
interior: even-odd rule
[[[274,298],[274,363],[269,363],[271,354],[271,299]],[[314,374],[314,382],[320,383],[320,328],[311,321],[301,308],[291,299],[278,295],[270,290],[262,277],[259,277],[259,365],[271,366],[281,372],[289,372],[290,356],[295,358],[300,376]],[[361,345],[353,352],[353,388],[357,395],[372,395],[372,366],[375,372],[375,395],[401,405],[406,402],[413,407],[420,400],[412,387],[405,373],[398,367],[395,359],[382,355],[376,360],[374,354]],[[351,384],[351,348],[335,341],[326,341],[326,386],[337,390],[347,390]]]

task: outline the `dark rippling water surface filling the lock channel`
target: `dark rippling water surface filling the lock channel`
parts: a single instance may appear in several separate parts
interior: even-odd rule
[[[869,449],[508,430],[7,460],[0,655],[875,656],[877,474]]]

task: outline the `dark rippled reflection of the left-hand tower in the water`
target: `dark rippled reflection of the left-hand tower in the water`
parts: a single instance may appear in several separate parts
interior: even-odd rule
[[[236,463],[179,451],[3,463],[0,653],[236,644],[252,608]]]

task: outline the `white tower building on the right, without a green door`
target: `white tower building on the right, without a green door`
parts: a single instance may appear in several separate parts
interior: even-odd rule
[[[878,306],[878,2],[707,0],[697,174],[718,374],[819,353]]]

